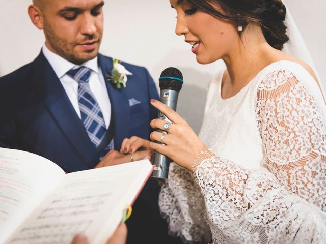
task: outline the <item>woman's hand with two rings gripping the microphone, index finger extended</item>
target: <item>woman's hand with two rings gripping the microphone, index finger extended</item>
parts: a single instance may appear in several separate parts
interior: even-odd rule
[[[168,134],[162,140],[166,145],[150,142],[149,147],[169,157],[178,165],[192,171],[195,158],[201,151],[206,151],[208,148],[178,113],[157,100],[152,99],[151,104],[164,113],[171,120],[172,125],[168,129]],[[165,130],[164,124],[166,123],[167,121],[163,119],[153,119],[151,127]],[[162,133],[152,132],[150,138],[153,141],[160,142]]]

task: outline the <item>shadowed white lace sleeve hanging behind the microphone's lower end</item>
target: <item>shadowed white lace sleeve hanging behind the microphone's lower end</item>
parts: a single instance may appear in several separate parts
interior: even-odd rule
[[[189,170],[170,164],[169,179],[161,184],[158,202],[162,216],[168,220],[170,235],[189,244],[211,240],[204,197]]]

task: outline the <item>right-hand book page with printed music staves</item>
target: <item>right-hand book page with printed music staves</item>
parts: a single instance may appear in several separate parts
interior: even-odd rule
[[[123,209],[138,195],[152,168],[143,160],[65,175],[8,243],[70,243],[82,232],[90,243],[103,243],[121,222]]]

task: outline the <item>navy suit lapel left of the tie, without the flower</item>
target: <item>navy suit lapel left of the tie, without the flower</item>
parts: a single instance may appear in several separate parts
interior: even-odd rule
[[[93,168],[94,162],[98,162],[95,148],[60,80],[42,52],[35,59],[34,72],[36,74],[34,77],[35,88],[49,113],[67,135],[67,139],[70,140],[75,153],[82,156],[88,168]]]

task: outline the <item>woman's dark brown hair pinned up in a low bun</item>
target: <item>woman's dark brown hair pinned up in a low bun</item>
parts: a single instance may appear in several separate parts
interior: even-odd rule
[[[212,16],[228,19],[245,28],[260,25],[268,44],[281,50],[289,38],[284,24],[286,8],[282,0],[186,0],[191,6]],[[223,13],[216,10],[219,7]]]

